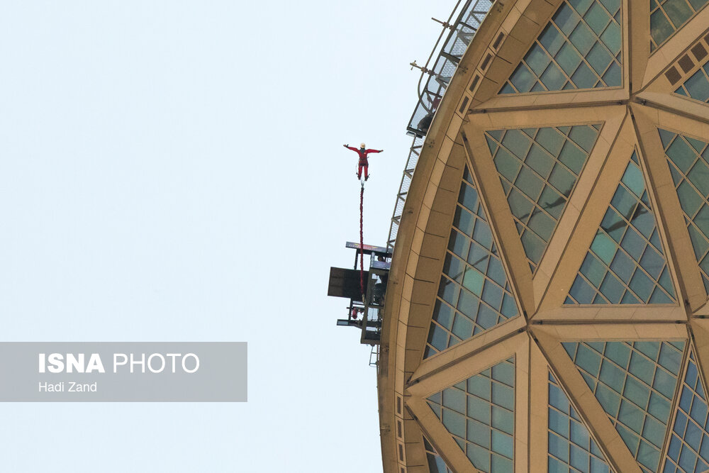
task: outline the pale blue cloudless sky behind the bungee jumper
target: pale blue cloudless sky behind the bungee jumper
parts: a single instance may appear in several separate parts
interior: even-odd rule
[[[454,2],[0,2],[3,341],[246,341],[244,404],[0,404],[0,471],[381,471],[330,266],[384,245]]]

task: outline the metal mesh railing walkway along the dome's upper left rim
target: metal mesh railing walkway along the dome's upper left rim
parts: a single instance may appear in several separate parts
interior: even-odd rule
[[[438,36],[428,61],[423,67],[416,65],[422,70],[418,81],[418,103],[406,127],[406,133],[413,136],[413,143],[411,143],[399,191],[396,194],[389,239],[386,241],[387,247],[393,247],[396,242],[408,188],[411,185],[416,163],[438,104],[440,104],[450,79],[458,67],[458,62],[493,4],[494,0],[458,0],[448,20],[439,21],[443,25],[443,30]],[[446,31],[448,31],[447,35]]]

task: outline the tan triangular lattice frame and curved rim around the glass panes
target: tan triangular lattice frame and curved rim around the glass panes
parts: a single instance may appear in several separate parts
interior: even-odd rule
[[[651,54],[650,2],[623,0],[620,87],[499,94],[564,3],[510,0],[493,4],[428,131],[398,229],[381,334],[379,407],[387,473],[435,473],[430,469],[424,437],[452,471],[491,471],[473,466],[471,455],[456,443],[429,400],[510,357],[515,373],[511,409],[514,466],[508,471],[548,471],[552,461],[548,445],[552,374],[610,471],[642,472],[638,460],[642,452],[628,447],[613,417],[604,411],[579,365],[569,356],[570,345],[562,345],[632,345],[637,341],[674,342],[683,347],[669,420],[657,447],[658,468],[652,470],[663,471],[690,353],[696,357],[693,362],[700,373],[709,369],[708,294],[668,165],[666,144],[658,133],[661,128],[703,143],[709,141],[709,106],[674,93],[708,60],[701,57],[696,45],[709,50],[704,39],[709,9],[693,13]],[[685,56],[688,60],[683,60]],[[668,73],[670,69],[674,73]],[[532,268],[506,196],[508,187],[493,160],[489,132],[591,125],[599,128],[593,148],[542,257]],[[644,177],[657,245],[664,250],[671,279],[667,294],[674,295],[674,301],[565,303],[633,153]],[[426,356],[466,168],[519,315]],[[705,177],[709,179],[709,175]],[[707,386],[703,376],[700,386]]]

